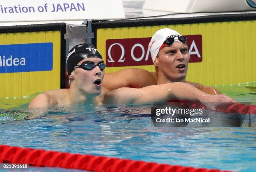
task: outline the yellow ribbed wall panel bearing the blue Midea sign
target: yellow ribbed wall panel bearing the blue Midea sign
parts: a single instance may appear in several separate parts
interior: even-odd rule
[[[60,88],[60,44],[60,31],[0,34],[0,98]]]

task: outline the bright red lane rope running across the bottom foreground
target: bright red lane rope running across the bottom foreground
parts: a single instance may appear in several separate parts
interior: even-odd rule
[[[0,145],[0,163],[22,163],[36,167],[62,167],[95,172],[220,172],[218,169],[182,167],[179,165],[70,154],[8,145]]]

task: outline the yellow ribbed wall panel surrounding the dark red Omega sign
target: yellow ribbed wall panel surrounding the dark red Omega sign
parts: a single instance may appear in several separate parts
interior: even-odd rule
[[[161,28],[171,28],[182,35],[202,35],[202,62],[189,63],[187,81],[208,86],[256,81],[256,20],[100,28],[97,29],[97,49],[105,58],[107,40],[148,38]],[[108,67],[106,72],[132,67],[155,71],[153,65],[145,65]]]

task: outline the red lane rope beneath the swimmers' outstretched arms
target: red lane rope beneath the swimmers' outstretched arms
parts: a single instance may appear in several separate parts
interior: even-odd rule
[[[207,108],[204,104],[200,102],[189,102],[189,101],[179,101],[173,100],[169,101],[167,104],[175,104],[175,106],[186,106],[188,108]],[[256,115],[256,106],[254,105],[245,105],[241,103],[233,103],[233,104],[226,104],[218,106],[216,108],[217,111],[227,112],[227,113],[239,113],[239,114],[254,114]]]

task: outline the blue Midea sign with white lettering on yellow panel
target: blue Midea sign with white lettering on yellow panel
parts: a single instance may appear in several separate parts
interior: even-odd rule
[[[53,43],[0,45],[0,73],[51,71]]]

